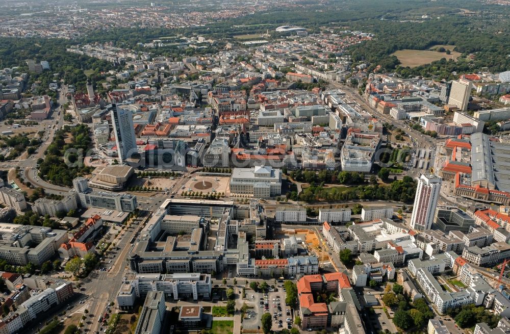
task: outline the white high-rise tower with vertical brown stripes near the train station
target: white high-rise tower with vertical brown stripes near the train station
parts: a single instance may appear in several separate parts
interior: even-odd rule
[[[411,228],[419,231],[430,229],[441,190],[441,178],[435,174],[422,174],[416,189]]]

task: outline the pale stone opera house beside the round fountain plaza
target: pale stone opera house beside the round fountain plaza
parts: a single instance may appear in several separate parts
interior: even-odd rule
[[[257,198],[279,196],[282,193],[282,171],[269,166],[234,168],[230,191],[250,194]]]

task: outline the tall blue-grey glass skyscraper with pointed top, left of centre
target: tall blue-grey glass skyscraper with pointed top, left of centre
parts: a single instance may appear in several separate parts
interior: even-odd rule
[[[119,163],[123,164],[126,159],[131,158],[137,153],[133,113],[131,110],[122,109],[118,105],[113,105],[110,116],[115,133]]]

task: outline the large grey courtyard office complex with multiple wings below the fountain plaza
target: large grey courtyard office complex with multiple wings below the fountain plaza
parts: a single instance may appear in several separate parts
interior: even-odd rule
[[[164,217],[183,211],[217,219],[217,224],[204,224],[179,239],[165,234]],[[252,276],[256,271],[247,236],[265,237],[260,213],[256,203],[234,208],[232,202],[167,199],[141,231],[128,258],[130,269],[139,273],[211,273],[232,266],[238,275]]]

